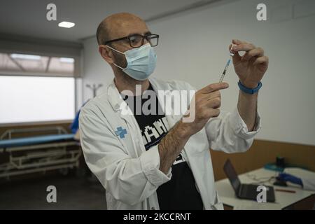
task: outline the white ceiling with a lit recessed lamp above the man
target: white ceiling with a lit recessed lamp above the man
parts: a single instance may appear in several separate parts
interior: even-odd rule
[[[125,11],[148,20],[207,1],[211,0],[1,0],[0,33],[79,42],[94,35],[99,22],[112,13]],[[56,4],[57,21],[46,20],[48,3]],[[75,22],[76,26],[57,27],[64,20]]]

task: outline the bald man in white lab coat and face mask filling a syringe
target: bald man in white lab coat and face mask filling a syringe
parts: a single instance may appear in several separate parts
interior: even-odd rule
[[[168,92],[172,100],[174,91],[193,90],[188,83],[149,78],[155,69],[153,47],[158,38],[144,20],[130,13],[111,15],[99,24],[99,54],[113,69],[114,79],[104,94],[81,110],[85,161],[106,189],[108,209],[223,209],[214,187],[209,148],[226,153],[250,148],[260,130],[258,90],[268,57],[251,43],[232,41],[229,50],[232,47],[240,88],[232,113],[220,111],[220,90],[228,83],[213,83],[195,92],[195,104],[189,109],[195,109],[193,122],[167,114],[174,110],[173,104],[167,104],[162,114],[126,115],[121,105],[127,99],[140,99],[144,106],[145,96],[153,92],[151,98],[160,108],[158,91]],[[241,51],[246,53],[240,56]]]

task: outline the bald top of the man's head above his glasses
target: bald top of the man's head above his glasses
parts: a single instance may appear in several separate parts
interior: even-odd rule
[[[101,45],[114,38],[139,33],[143,29],[148,30],[146,22],[137,15],[131,13],[109,15],[97,27],[97,43]]]

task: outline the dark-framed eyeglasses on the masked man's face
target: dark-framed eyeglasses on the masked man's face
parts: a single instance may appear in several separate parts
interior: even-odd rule
[[[129,40],[129,44],[132,48],[140,48],[142,45],[144,45],[144,39],[146,39],[152,47],[155,47],[159,43],[158,34],[145,34],[145,35],[132,34],[130,36],[125,36],[125,37],[117,38],[111,41],[106,41],[105,45],[108,43],[115,42],[115,41]]]

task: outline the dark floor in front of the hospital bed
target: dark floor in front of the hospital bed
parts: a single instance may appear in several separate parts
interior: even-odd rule
[[[48,203],[48,186],[57,189],[57,202]],[[0,184],[0,209],[106,209],[105,190],[95,179],[42,176]]]

